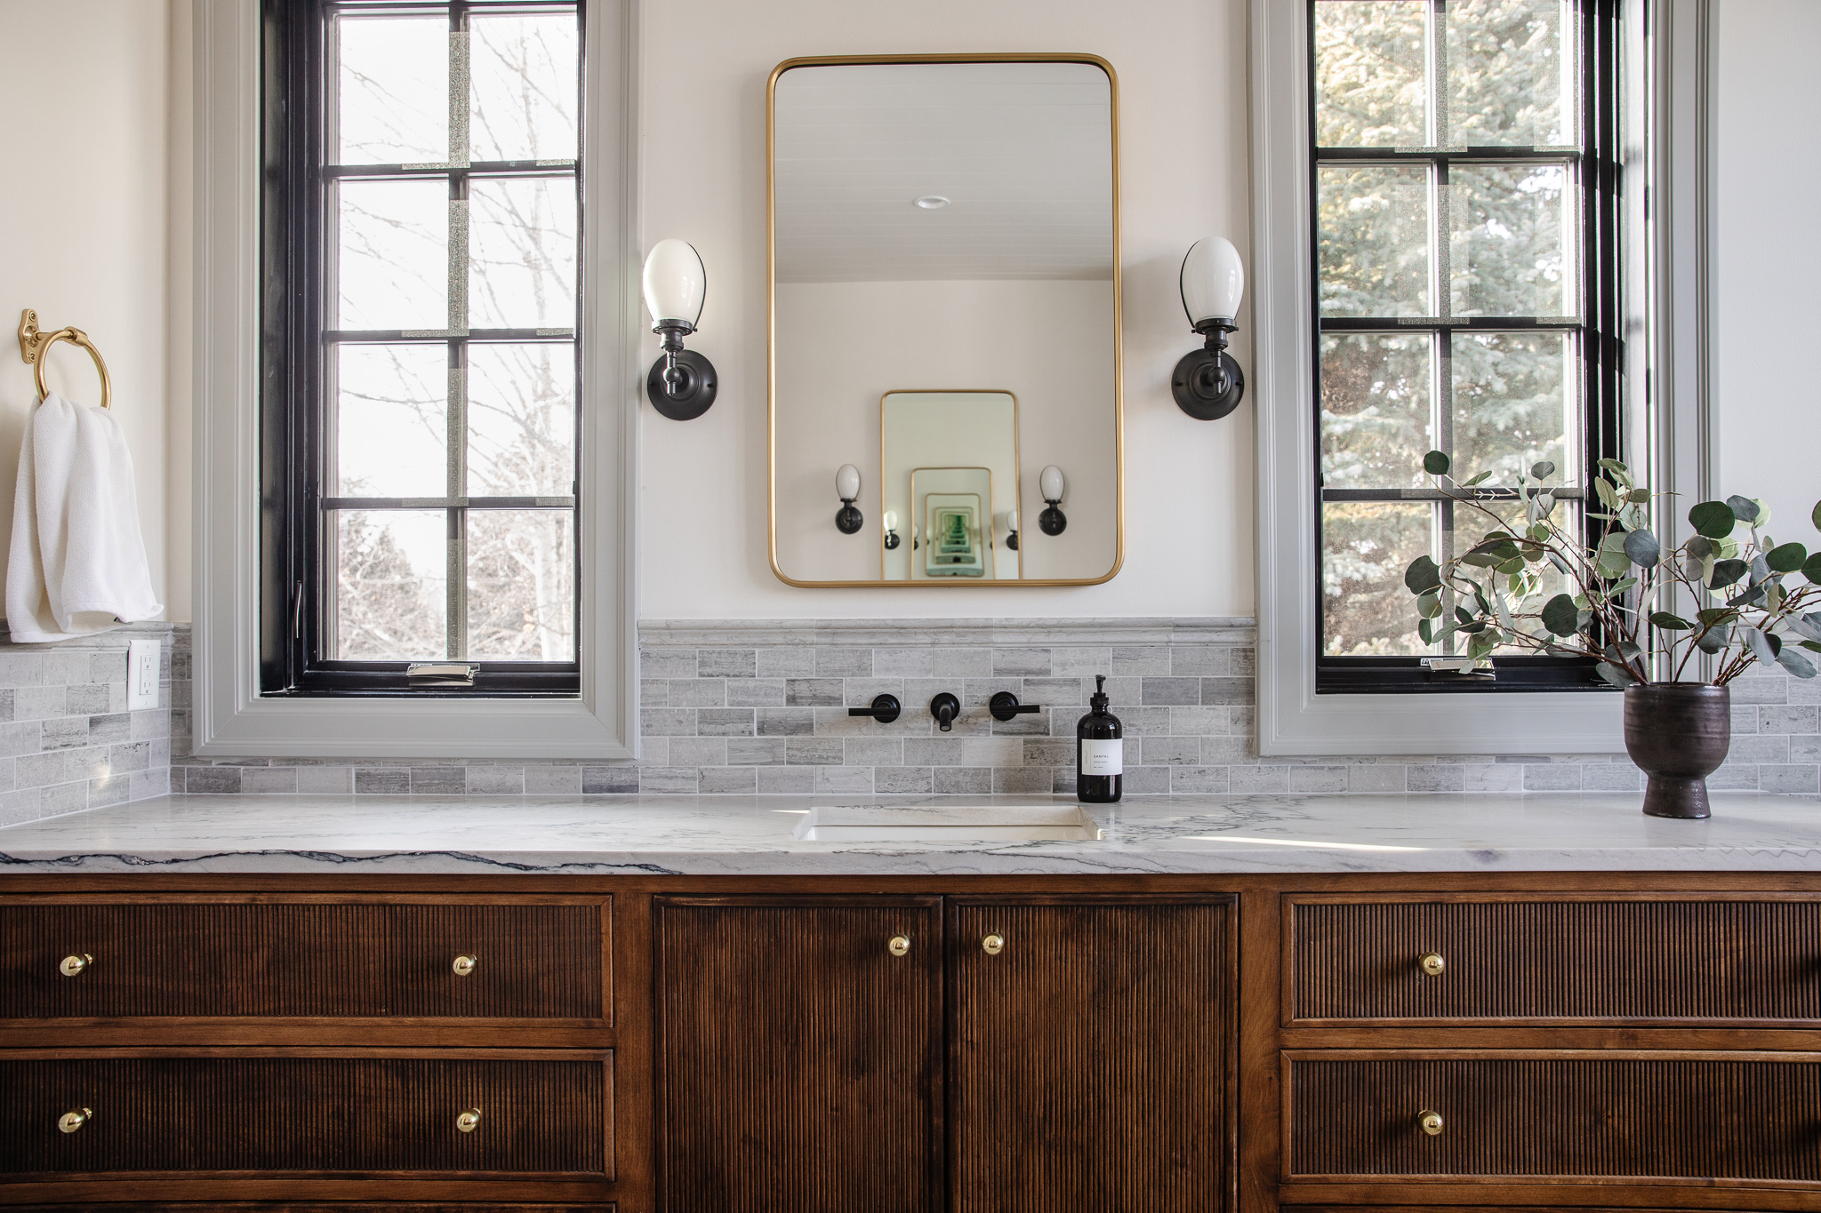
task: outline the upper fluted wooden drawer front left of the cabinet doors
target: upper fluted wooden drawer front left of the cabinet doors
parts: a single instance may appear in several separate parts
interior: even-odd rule
[[[0,902],[0,1018],[599,1020],[606,909],[599,897],[15,898]]]

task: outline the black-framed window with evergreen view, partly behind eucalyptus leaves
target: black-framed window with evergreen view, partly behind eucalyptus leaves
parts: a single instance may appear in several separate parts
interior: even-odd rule
[[[1577,658],[1433,678],[1406,566],[1553,462],[1621,456],[1617,0],[1307,0],[1320,504],[1318,691],[1602,689]],[[1484,529],[1484,526],[1480,527]]]

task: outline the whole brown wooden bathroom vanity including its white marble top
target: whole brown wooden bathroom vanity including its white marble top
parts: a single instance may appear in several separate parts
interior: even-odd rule
[[[0,1202],[1821,1204],[1814,798],[794,837],[818,804],[191,797],[4,829]]]

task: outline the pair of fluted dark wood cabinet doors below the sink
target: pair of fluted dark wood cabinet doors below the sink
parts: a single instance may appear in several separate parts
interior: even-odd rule
[[[657,898],[665,1208],[1229,1208],[1233,918],[1226,897]]]

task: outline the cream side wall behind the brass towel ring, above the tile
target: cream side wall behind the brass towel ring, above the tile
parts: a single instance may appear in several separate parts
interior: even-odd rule
[[[168,31],[166,0],[0,0],[0,113],[9,135],[0,189],[0,542],[11,535],[18,446],[36,406],[33,369],[13,338],[20,309],[33,307],[44,327],[84,329],[107,360],[153,589],[178,607],[173,618],[188,618],[188,535],[177,536],[186,553],[177,589],[166,524]],[[49,384],[100,402],[89,356],[69,344],[55,347]]]

